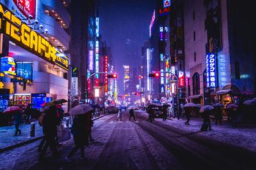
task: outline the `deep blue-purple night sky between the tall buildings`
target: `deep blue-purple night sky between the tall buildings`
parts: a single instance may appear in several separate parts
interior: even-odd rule
[[[149,37],[149,24],[156,0],[100,0],[102,40],[111,46],[118,73],[118,89],[124,90],[124,65],[141,65],[141,46]]]

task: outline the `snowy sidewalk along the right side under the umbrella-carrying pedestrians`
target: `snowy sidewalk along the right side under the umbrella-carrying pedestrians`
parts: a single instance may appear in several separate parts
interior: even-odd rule
[[[148,114],[145,113],[147,116]],[[187,132],[200,131],[203,123],[202,118],[191,118],[189,125],[185,125],[186,118],[182,117],[180,120],[172,118],[172,120],[163,121],[162,118],[156,118],[156,122],[168,124],[171,127],[182,129]],[[222,122],[222,124],[216,125],[211,121],[212,131],[198,132],[197,134],[202,137],[212,138],[223,143],[231,144],[234,146],[240,146],[247,150],[256,152],[256,124],[238,124],[237,127],[232,127],[230,122]]]

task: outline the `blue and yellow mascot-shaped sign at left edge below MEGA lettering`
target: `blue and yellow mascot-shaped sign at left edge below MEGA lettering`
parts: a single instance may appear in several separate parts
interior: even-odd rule
[[[16,64],[13,57],[3,57],[1,58],[1,72],[4,74],[9,74],[16,76]]]

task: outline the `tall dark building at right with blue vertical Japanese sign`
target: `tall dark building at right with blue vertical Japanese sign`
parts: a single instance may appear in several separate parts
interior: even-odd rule
[[[252,4],[184,0],[184,11],[187,98],[226,105],[255,94]]]

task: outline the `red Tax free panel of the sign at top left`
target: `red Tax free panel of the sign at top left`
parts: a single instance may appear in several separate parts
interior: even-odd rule
[[[29,15],[32,15],[32,19],[35,19],[36,11],[36,0],[12,0],[15,6],[19,11],[28,18]]]

